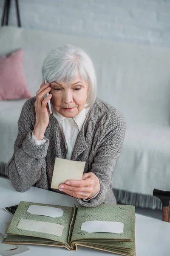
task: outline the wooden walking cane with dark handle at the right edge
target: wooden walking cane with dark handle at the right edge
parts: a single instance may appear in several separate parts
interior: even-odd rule
[[[153,196],[159,198],[162,203],[162,220],[169,222],[170,191],[153,189]]]

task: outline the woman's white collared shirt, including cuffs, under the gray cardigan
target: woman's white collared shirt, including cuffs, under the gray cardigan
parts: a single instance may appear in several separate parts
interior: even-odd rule
[[[66,143],[67,143],[67,154],[66,154],[65,159],[71,160],[71,155],[72,155],[74,145],[77,140],[77,136],[82,128],[82,125],[85,121],[85,117],[86,117],[88,111],[90,110],[90,108],[83,108],[82,111],[80,111],[74,117],[62,116],[60,113],[58,113],[54,109],[52,104],[51,104],[51,108],[52,108],[53,115],[57,119],[57,121],[59,123],[59,127],[61,128],[61,130],[65,136]],[[46,142],[45,139],[37,140],[36,137],[34,136],[33,132],[32,132],[31,138],[32,138],[32,140],[34,140],[34,142],[37,145],[42,145]],[[98,193],[90,199],[96,198]],[[83,201],[88,202],[90,199],[83,199]]]

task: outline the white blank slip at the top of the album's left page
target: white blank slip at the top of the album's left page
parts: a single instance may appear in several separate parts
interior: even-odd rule
[[[28,207],[27,212],[31,214],[49,216],[53,218],[61,217],[63,214],[62,209],[59,209],[56,207],[50,207],[50,206],[43,206],[43,205],[30,205]]]

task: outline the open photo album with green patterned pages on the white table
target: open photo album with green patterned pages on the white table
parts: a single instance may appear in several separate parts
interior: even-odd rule
[[[4,244],[91,247],[135,256],[135,206],[66,207],[20,201]]]

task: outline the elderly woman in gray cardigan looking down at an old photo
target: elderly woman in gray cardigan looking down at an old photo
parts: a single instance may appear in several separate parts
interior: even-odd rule
[[[20,192],[37,186],[71,195],[85,207],[116,204],[112,175],[125,137],[125,119],[96,98],[91,59],[79,47],[59,47],[45,58],[42,74],[48,82],[42,81],[36,97],[26,101],[18,120],[7,169],[13,186]],[[50,94],[44,99],[46,93]],[[85,161],[82,180],[51,189],[55,157]]]

